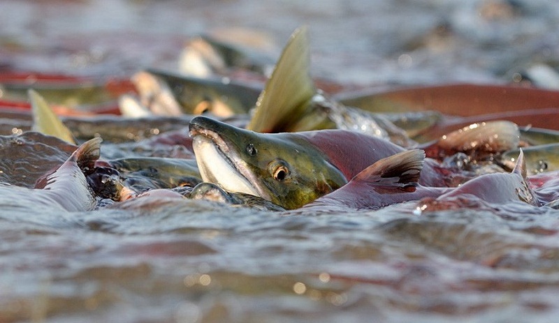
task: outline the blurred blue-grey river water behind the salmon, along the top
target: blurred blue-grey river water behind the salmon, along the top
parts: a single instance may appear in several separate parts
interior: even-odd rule
[[[0,70],[173,69],[191,38],[231,29],[263,33],[277,57],[303,24],[313,76],[343,84],[518,82],[558,67],[554,0],[2,0]]]

